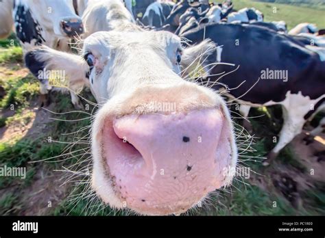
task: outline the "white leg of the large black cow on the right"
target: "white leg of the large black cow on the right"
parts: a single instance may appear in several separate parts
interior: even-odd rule
[[[267,159],[263,162],[263,166],[269,166],[270,161],[278,156],[280,150],[287,146],[287,144],[302,131],[305,122],[304,115],[307,112],[308,111],[299,110],[297,108],[288,109],[282,106],[283,126],[280,131],[278,144],[276,144],[276,147],[267,155]]]

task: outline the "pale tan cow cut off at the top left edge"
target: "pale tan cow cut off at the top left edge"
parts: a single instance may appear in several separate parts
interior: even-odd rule
[[[7,38],[12,32],[14,21],[12,20],[12,8],[14,0],[0,0],[0,39]]]

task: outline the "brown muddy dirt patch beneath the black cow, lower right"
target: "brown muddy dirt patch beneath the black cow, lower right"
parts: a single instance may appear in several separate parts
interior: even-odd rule
[[[296,160],[305,168],[304,171],[289,164],[274,161],[271,168],[264,168],[260,176],[252,174],[250,183],[268,191],[270,194],[278,194],[288,200],[293,207],[300,209],[304,204],[302,194],[313,189],[315,183],[325,182],[325,161],[318,158],[325,151],[325,134],[314,138],[313,143],[306,145],[304,137],[306,131],[298,135],[290,144],[296,154]]]

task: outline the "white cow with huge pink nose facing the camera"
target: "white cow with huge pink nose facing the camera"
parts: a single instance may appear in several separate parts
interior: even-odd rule
[[[184,213],[230,184],[228,168],[237,164],[226,103],[180,77],[180,66],[215,44],[184,49],[168,31],[124,31],[120,8],[109,12],[115,28],[88,36],[81,55],[43,47],[27,53],[27,66],[89,80],[99,106],[91,125],[91,184],[101,200],[145,215]]]

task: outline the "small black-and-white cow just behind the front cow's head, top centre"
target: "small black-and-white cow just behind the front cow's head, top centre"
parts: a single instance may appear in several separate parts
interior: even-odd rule
[[[169,16],[173,9],[173,5],[175,5],[175,3],[172,1],[156,1],[150,4],[145,10],[142,23],[150,27],[163,27],[167,16]]]

